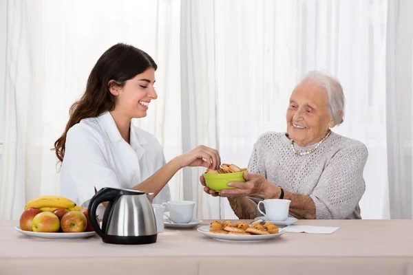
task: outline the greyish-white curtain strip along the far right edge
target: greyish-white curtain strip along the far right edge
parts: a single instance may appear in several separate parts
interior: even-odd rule
[[[412,219],[413,1],[389,1],[388,171],[392,219]]]

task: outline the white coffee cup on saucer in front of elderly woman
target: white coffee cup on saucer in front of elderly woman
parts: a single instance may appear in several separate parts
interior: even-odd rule
[[[266,217],[268,221],[285,221],[290,210],[289,199],[264,199],[258,203],[258,211]],[[261,211],[260,204],[264,203],[265,213]]]

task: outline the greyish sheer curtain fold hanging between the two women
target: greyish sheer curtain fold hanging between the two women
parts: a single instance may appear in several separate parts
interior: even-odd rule
[[[181,1],[182,149],[200,144],[219,151],[215,71],[215,1]],[[223,161],[223,160],[222,160]],[[196,201],[200,219],[221,219],[220,197],[204,193],[200,175],[206,168],[184,168],[184,199]]]

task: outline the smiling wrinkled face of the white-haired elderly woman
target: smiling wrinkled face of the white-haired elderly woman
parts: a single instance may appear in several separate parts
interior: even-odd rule
[[[332,124],[327,91],[312,83],[300,83],[290,96],[286,119],[288,136],[299,146],[319,142]]]

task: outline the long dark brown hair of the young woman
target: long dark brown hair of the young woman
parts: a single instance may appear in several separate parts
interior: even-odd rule
[[[115,108],[115,98],[108,87],[109,80],[115,80],[123,87],[127,80],[142,74],[149,67],[155,70],[158,68],[149,54],[123,43],[113,45],[100,56],[87,79],[85,94],[70,107],[70,118],[65,131],[54,142],[52,150],[56,151],[59,161],[63,162],[67,131],[74,124],[83,118],[93,118]]]

